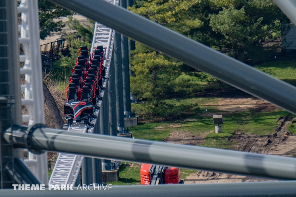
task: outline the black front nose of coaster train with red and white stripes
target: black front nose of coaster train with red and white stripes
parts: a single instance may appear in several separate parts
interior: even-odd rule
[[[94,114],[94,106],[90,101],[70,101],[66,102],[64,106],[65,114],[70,115],[76,122],[81,120],[88,120],[89,116]]]

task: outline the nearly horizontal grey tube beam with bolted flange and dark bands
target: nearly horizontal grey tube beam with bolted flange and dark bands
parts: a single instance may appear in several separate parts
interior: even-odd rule
[[[11,128],[16,148],[162,164],[214,172],[296,179],[296,158],[44,128]],[[11,130],[4,138],[11,141]],[[28,138],[29,136],[29,138]],[[75,146],[73,146],[75,144]]]

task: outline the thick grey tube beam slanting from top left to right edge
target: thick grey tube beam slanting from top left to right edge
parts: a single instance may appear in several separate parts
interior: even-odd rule
[[[296,88],[142,16],[100,0],[49,0],[296,114]]]

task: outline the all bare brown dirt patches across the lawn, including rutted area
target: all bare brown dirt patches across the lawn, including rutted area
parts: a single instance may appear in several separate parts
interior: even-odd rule
[[[256,98],[225,98],[218,102],[218,109],[230,113],[247,111],[250,109],[256,112],[270,112],[278,109],[277,106]],[[205,114],[206,115],[206,114]],[[186,120],[184,120],[186,121]],[[188,120],[187,120],[188,121]],[[190,121],[190,120],[189,120]],[[230,139],[237,143],[235,150],[261,154],[273,154],[280,156],[294,156],[296,154],[296,135],[292,135],[287,126],[291,121],[287,117],[279,118],[280,123],[276,132],[268,136],[257,136],[250,133],[236,132]],[[191,132],[173,131],[164,141],[170,143],[196,145],[205,141],[205,136],[210,133],[194,135]],[[229,175],[216,172],[197,171],[184,179],[185,184],[190,183],[228,183],[228,182],[251,182],[251,181],[272,181],[258,177],[246,177],[240,175]]]

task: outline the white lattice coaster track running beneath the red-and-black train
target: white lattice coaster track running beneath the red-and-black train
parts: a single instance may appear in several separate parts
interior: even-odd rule
[[[118,6],[118,0],[109,0],[108,2],[115,4]],[[114,40],[115,30],[108,28],[105,25],[102,25],[98,22],[95,23],[94,28],[94,38],[91,45],[91,53],[98,46],[102,45],[106,48],[106,60],[104,61],[104,66],[106,67],[105,76],[108,77],[109,67],[112,58],[112,50],[113,50],[113,40]],[[106,88],[107,79],[103,80],[103,87]],[[101,90],[99,96],[104,97],[105,90]],[[97,106],[100,107],[102,101],[97,103]],[[94,115],[97,116],[99,114],[99,110],[94,112]],[[92,124],[96,124],[97,120],[92,120]],[[73,122],[70,127],[66,129],[71,132],[79,132],[79,133],[92,133],[94,127],[90,127],[85,125],[83,122],[76,123]],[[79,175],[81,162],[83,156],[68,154],[68,153],[59,153],[57,162],[54,165],[54,169],[52,170],[52,175],[49,179],[49,184],[75,184],[76,179]],[[119,167],[120,163],[118,161],[115,162],[116,167]]]

